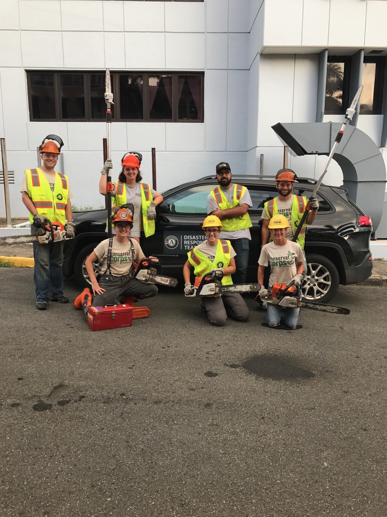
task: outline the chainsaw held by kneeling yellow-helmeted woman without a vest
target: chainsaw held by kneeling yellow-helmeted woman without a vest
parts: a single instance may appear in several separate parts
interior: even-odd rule
[[[257,298],[258,297],[259,295]],[[325,305],[324,303],[317,303],[315,301],[301,301],[301,286],[296,287],[293,280],[288,285],[281,283],[274,284],[271,288],[271,296],[263,298],[262,301],[272,303],[273,305],[280,305],[285,308],[289,307],[291,309],[305,307],[305,309],[311,309],[312,311],[331,312],[333,314],[347,315],[350,313],[350,310],[346,307]]]

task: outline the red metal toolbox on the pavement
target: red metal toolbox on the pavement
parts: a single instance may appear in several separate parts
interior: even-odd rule
[[[128,303],[120,305],[105,305],[104,307],[89,307],[87,324],[91,330],[107,330],[132,326],[133,307]]]

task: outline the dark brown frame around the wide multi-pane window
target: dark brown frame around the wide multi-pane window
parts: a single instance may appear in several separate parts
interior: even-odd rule
[[[33,73],[50,73],[54,75],[54,95],[55,95],[55,112],[56,118],[34,118],[32,107],[32,88],[31,74]],[[84,76],[84,92],[85,92],[85,118],[66,118],[62,116],[61,90],[60,90],[60,74],[83,74]],[[105,118],[91,118],[91,95],[90,95],[90,75],[104,74],[104,70],[26,70],[27,74],[27,96],[30,122],[105,122]],[[142,109],[143,118],[121,118],[121,99],[120,99],[120,75],[142,75],[143,80],[143,99]],[[171,75],[172,76],[172,118],[171,119],[150,119],[149,117],[149,76],[150,75]],[[201,78],[200,81],[200,100],[201,100],[201,118],[200,119],[179,119],[179,99],[178,99],[178,77],[179,75],[196,75]],[[114,122],[140,122],[140,123],[179,123],[179,124],[202,124],[204,122],[204,72],[170,72],[168,70],[161,71],[137,71],[122,70],[110,72],[111,89],[114,100]]]

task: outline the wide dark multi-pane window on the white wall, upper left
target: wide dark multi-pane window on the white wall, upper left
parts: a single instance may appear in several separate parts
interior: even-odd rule
[[[114,121],[203,122],[204,73],[110,74]],[[35,120],[104,121],[105,74],[27,72],[29,116]]]

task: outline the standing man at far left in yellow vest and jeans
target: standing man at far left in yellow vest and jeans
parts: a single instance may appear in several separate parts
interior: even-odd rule
[[[38,227],[47,224],[46,219],[49,219],[65,227],[67,238],[73,239],[75,236],[69,180],[65,174],[55,171],[62,145],[59,136],[46,136],[39,147],[43,165],[24,171],[22,201],[29,210],[32,235],[36,235]],[[63,241],[33,243],[36,308],[40,311],[48,308],[50,300],[58,303],[69,301],[63,296],[63,244]]]

